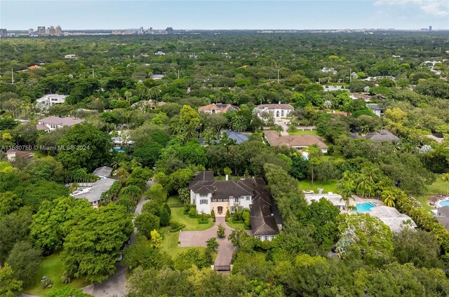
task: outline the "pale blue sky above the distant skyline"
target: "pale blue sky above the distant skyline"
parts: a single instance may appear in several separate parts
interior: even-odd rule
[[[0,0],[0,27],[36,29],[449,29],[449,0]]]

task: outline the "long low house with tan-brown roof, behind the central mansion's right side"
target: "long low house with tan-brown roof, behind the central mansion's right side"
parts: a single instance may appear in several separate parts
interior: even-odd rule
[[[321,148],[323,153],[328,152],[328,146],[321,140],[320,137],[304,134],[304,135],[282,135],[273,130],[264,131],[265,139],[267,139],[270,146],[288,146],[289,148],[296,148],[298,151],[316,144]]]

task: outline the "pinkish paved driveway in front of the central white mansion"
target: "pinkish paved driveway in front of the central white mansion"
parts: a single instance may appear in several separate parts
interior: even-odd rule
[[[179,241],[180,247],[207,247],[207,240],[210,237],[217,237],[218,225],[222,224],[225,227],[225,238],[217,238],[217,242],[220,244],[217,250],[217,258],[215,258],[214,265],[231,265],[232,253],[235,251],[235,247],[227,239],[231,234],[233,228],[227,226],[224,217],[215,218],[215,225],[211,228],[202,231],[181,231]],[[247,233],[251,235],[251,231]]]

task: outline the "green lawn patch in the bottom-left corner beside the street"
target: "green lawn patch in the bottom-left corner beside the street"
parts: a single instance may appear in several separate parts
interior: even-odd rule
[[[73,288],[79,289],[89,284],[85,279],[74,279],[69,284],[63,284],[61,280],[62,272],[64,272],[64,267],[60,253],[55,253],[43,258],[39,270],[36,272],[33,284],[24,289],[25,293],[44,295],[65,286],[72,286]],[[43,275],[53,279],[53,287],[50,289],[41,289],[41,277],[43,277]]]

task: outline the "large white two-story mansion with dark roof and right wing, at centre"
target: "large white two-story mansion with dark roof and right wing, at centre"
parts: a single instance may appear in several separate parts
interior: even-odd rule
[[[279,212],[265,188],[263,179],[239,181],[214,181],[213,172],[203,171],[189,184],[190,202],[198,212],[223,217],[226,212],[250,209],[253,236],[260,240],[272,240],[282,228]]]

